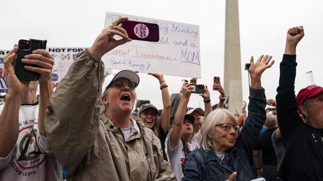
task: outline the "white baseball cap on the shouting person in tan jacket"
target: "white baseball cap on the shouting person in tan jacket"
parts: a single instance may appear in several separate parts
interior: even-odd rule
[[[105,77],[104,83],[102,86],[102,94],[110,87],[111,83],[119,78],[126,78],[131,82],[134,82],[139,85],[139,76],[136,72],[131,70],[122,70],[116,74],[110,74]]]

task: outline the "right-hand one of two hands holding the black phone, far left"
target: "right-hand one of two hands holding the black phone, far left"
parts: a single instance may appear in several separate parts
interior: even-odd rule
[[[54,66],[54,58],[45,49],[36,49],[32,54],[26,55],[21,59],[22,63],[37,65],[39,67],[33,67],[25,65],[24,68],[31,72],[40,74],[39,83],[48,83],[52,79],[52,69]]]

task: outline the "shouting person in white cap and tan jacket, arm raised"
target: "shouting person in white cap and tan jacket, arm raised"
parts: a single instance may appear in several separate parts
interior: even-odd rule
[[[119,18],[80,52],[50,98],[46,134],[68,181],[173,181],[161,143],[131,118],[139,76],[123,70],[106,77],[101,57],[129,39]],[[115,40],[114,35],[123,39]],[[104,104],[104,112],[100,112]]]

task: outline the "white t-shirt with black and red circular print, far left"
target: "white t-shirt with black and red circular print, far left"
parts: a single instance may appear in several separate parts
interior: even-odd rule
[[[0,106],[2,112],[3,105]],[[0,157],[0,181],[62,181],[62,165],[38,131],[39,105],[21,105],[15,147]],[[52,156],[47,156],[52,155]]]

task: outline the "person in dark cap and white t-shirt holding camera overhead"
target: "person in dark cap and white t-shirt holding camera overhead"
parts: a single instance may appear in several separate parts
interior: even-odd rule
[[[186,107],[191,94],[190,86],[192,83],[184,83],[182,87],[182,97],[179,101],[177,111],[174,116],[173,128],[169,136],[166,138],[167,156],[171,168],[173,169],[177,181],[183,178],[183,164],[186,155],[199,148],[201,134],[203,133],[203,125],[200,131],[193,136],[193,124],[195,118],[191,114],[185,114]],[[204,99],[205,114],[207,116],[211,111],[210,92],[204,87],[204,93],[199,94]]]

